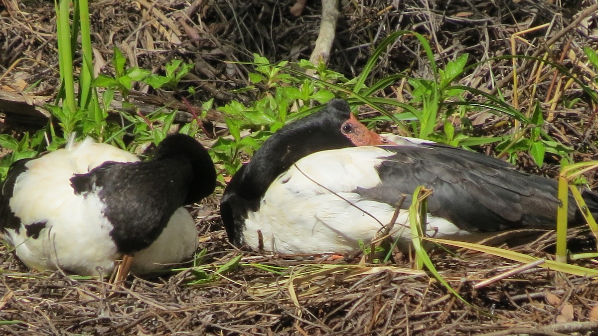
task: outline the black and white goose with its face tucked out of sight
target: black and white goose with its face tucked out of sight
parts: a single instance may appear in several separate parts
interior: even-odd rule
[[[14,163],[0,194],[0,229],[30,268],[110,274],[135,256],[147,274],[187,261],[197,229],[182,206],[209,196],[216,172],[208,152],[172,135],[152,160],[87,138]]]

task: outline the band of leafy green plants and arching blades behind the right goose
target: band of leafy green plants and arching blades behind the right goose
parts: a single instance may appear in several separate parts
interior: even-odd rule
[[[383,78],[371,80],[370,75],[376,66],[377,60],[380,56],[387,52],[390,47],[402,36],[414,36],[420,42],[426,59],[429,61],[432,78],[412,78],[405,74],[391,74]],[[586,50],[585,53],[589,59],[596,59],[593,50]],[[538,59],[537,57],[526,56],[501,56],[493,59],[484,60],[483,62],[493,62],[501,59],[524,58],[531,59],[537,62],[544,62],[549,66],[553,66],[562,74],[572,78],[578,83],[582,90],[586,93],[596,96],[592,93],[587,85],[579,81],[573,74],[570,74],[562,66],[552,63],[547,60]],[[234,172],[240,165],[238,160],[239,152],[245,151],[249,156],[255,151],[256,146],[260,145],[260,141],[244,140],[241,135],[243,130],[260,129],[261,131],[273,132],[278,129],[282,123],[284,112],[276,114],[271,109],[271,106],[292,106],[301,100],[302,103],[310,100],[321,101],[325,99],[315,99],[316,94],[319,98],[326,98],[333,94],[334,96],[345,96],[350,103],[365,103],[374,109],[382,112],[381,117],[371,118],[365,121],[375,123],[381,120],[393,121],[399,127],[399,132],[408,136],[417,136],[423,139],[431,139],[437,142],[447,143],[453,146],[477,146],[487,143],[498,142],[496,148],[499,150],[499,157],[507,155],[508,160],[515,163],[518,153],[521,151],[529,152],[538,166],[544,163],[545,154],[550,153],[559,157],[567,158],[572,151],[557,140],[548,135],[542,127],[544,127],[544,117],[539,104],[535,103],[535,109],[532,115],[527,116],[520,112],[517,108],[509,105],[505,100],[503,94],[499,92],[498,95],[491,95],[484,91],[477,90],[465,85],[455,84],[459,78],[468,74],[471,69],[480,66],[480,63],[468,65],[468,56],[463,54],[455,60],[446,63],[444,68],[437,65],[432,52],[432,48],[425,36],[416,32],[402,30],[390,34],[377,46],[372,56],[364,66],[363,71],[358,77],[353,80],[346,80],[342,75],[335,74],[325,68],[324,65],[313,65],[307,61],[301,61],[294,68],[289,68],[288,63],[281,62],[277,65],[270,64],[263,57],[256,56],[254,62],[246,63],[254,65],[257,74],[250,74],[249,78],[252,83],[263,83],[262,87],[266,88],[266,92],[274,90],[274,93],[267,94],[267,104],[264,104],[264,96],[258,96],[254,105],[249,108],[239,108],[239,106],[228,106],[222,109],[225,113],[228,111],[227,125],[231,130],[233,140],[228,140],[226,143],[219,143],[222,148],[221,156],[225,156],[224,149],[228,150],[227,155],[230,157],[227,165],[229,172]],[[315,77],[306,75],[304,70],[310,69],[317,71],[318,75]],[[282,73],[283,72],[283,73]],[[291,75],[291,76],[289,76]],[[408,90],[410,94],[407,102],[398,102],[396,99],[379,97],[379,93],[385,91],[387,88],[395,85],[398,80],[407,80]],[[276,94],[275,87],[282,83],[282,85],[301,85],[301,94],[297,93],[296,88],[289,89],[292,94],[282,93]],[[280,86],[280,85],[279,85]],[[249,85],[242,90],[255,90],[258,85]],[[316,90],[313,90],[316,88]],[[478,96],[481,101],[466,100],[465,95],[474,94]],[[295,102],[292,101],[295,99]],[[283,102],[280,104],[280,102]],[[301,105],[301,104],[299,104]],[[396,111],[388,111],[388,106],[396,108]],[[498,136],[472,136],[472,126],[468,121],[468,114],[471,112],[487,111],[495,115],[507,115],[515,123],[520,123],[520,127],[516,129],[514,134],[505,133]],[[300,118],[304,115],[313,112],[312,109],[298,109],[297,113],[288,115],[288,120]],[[276,118],[276,116],[281,116]],[[462,121],[458,127],[454,126],[454,118],[459,118]],[[245,119],[245,120],[243,120]],[[248,122],[252,119],[252,122]],[[264,124],[264,123],[268,124]],[[439,125],[443,127],[438,127]],[[262,137],[260,137],[262,138]],[[263,138],[267,138],[263,136]],[[244,143],[241,143],[244,142]]]

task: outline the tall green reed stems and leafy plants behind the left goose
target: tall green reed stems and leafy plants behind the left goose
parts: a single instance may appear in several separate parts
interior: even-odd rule
[[[160,142],[171,129],[175,114],[162,109],[148,115],[141,114],[129,100],[130,90],[137,83],[151,85],[156,90],[176,87],[193,68],[181,60],[173,60],[164,65],[164,75],[152,74],[149,70],[127,67],[126,57],[114,48],[114,76],[101,74],[94,78],[87,0],[60,0],[56,4],[56,16],[61,87],[56,102],[45,105],[45,108],[57,121],[60,130],[56,130],[50,122],[46,129],[33,136],[25,133],[19,141],[2,135],[0,145],[10,149],[12,154],[5,155],[0,162],[0,179],[4,179],[14,161],[33,157],[44,150],[55,150],[66,142],[71,133],[79,139],[92,136],[100,142],[113,142],[121,148],[127,148],[123,136],[129,133],[135,139],[128,145],[130,150],[139,143]],[[75,63],[79,59],[80,65]],[[80,69],[78,75],[75,69]],[[101,95],[98,88],[102,89]],[[136,112],[116,111],[126,121],[123,124],[108,121],[111,103],[117,96],[122,97],[124,109]],[[211,108],[212,101],[206,104]],[[194,135],[198,130],[195,120],[181,129],[188,135]]]

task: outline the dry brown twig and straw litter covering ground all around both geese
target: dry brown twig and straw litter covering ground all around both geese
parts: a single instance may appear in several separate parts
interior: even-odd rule
[[[51,102],[59,87],[53,2],[2,3],[0,90],[20,96],[27,106]],[[385,36],[410,29],[429,39],[441,65],[462,53],[477,62],[511,53],[542,57],[551,50],[551,60],[591,85],[596,69],[585,66],[582,47],[597,49],[597,13],[586,13],[594,4],[590,0],[341,1],[329,66],[355,77]],[[94,48],[97,57],[108,62],[112,45],[117,45],[136,65],[154,71],[175,58],[194,63],[184,85],[197,88],[190,97],[195,105],[210,98],[217,106],[233,99],[249,102],[255,98],[252,93],[234,91],[248,83],[249,68],[222,61],[249,61],[252,53],[271,62],[309,59],[321,4],[308,2],[299,16],[290,13],[292,5],[272,0],[94,1],[90,4]],[[549,25],[533,29],[544,23]],[[522,39],[512,50],[514,35]],[[404,39],[380,57],[373,74],[382,78],[408,71],[414,77],[431,78],[426,62],[419,45]],[[579,87],[532,62],[518,63],[520,95],[513,101],[511,60],[492,64],[480,65],[463,84],[491,94],[498,89],[521,111],[541,98],[547,132],[571,146],[576,161],[596,158],[598,110]],[[385,94],[399,99],[401,84],[395,89]],[[185,110],[175,93],[139,90],[139,103]],[[47,124],[35,110],[23,115],[7,106],[0,108],[2,132],[19,136]],[[505,117],[483,113],[469,117],[478,135],[508,134],[514,127]],[[209,111],[207,120],[214,127],[222,124],[217,111]],[[492,146],[480,150],[496,154]],[[521,169],[556,175],[558,161],[547,161],[538,168],[525,152],[517,158]],[[594,187],[594,175],[586,178]],[[239,251],[226,240],[218,203],[216,193],[191,209],[198,218],[200,251],[205,252],[199,267],[182,267],[155,279],[131,277],[122,286],[60,273],[30,273],[13,253],[0,248],[0,334],[598,335],[596,279],[532,268],[477,287],[481,280],[519,264],[484,253],[436,249],[434,264],[468,301],[465,304],[429,274],[413,270],[405,255],[395,255],[392,264],[366,266],[361,256],[332,261],[327,256]],[[554,233],[539,234],[512,249],[553,258]],[[587,230],[570,230],[569,236],[572,245],[593,246],[595,251]],[[597,267],[595,261],[582,264]]]

